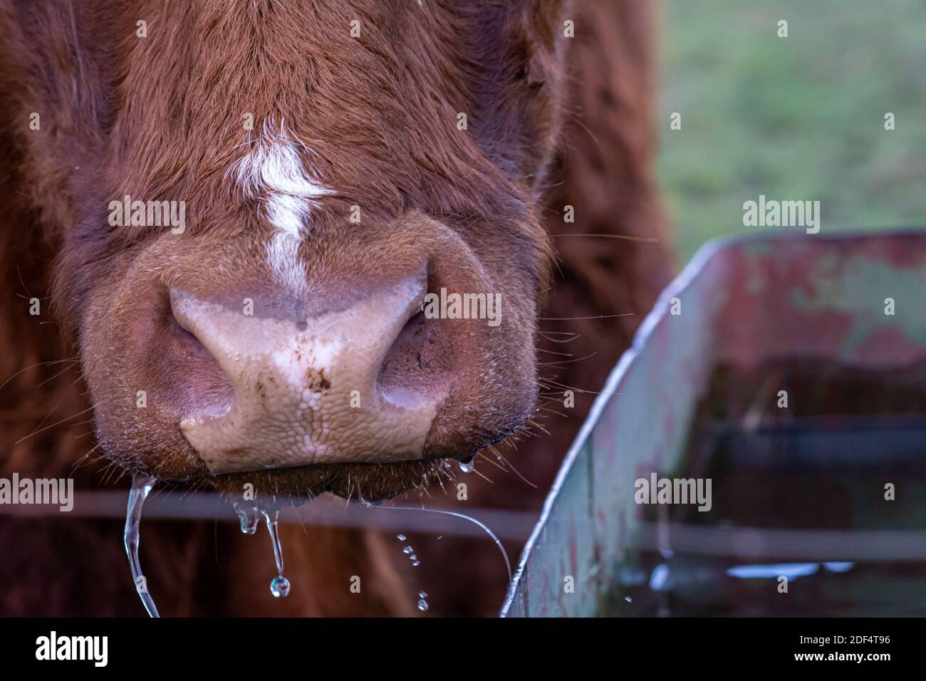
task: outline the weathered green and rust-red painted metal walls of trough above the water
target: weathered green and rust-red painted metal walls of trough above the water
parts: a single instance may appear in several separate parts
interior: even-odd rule
[[[885,299],[895,314],[885,314]],[[926,233],[711,242],[659,297],[594,402],[526,545],[503,617],[605,612],[641,524],[634,481],[676,470],[712,368],[799,354],[926,360]],[[571,589],[569,588],[571,586]]]

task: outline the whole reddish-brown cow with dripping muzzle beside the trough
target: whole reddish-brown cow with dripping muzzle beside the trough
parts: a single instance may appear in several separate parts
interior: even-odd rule
[[[590,395],[538,422],[538,385],[601,385],[669,273],[578,236],[662,236],[649,5],[2,0],[0,475],[389,498],[530,434],[536,488],[469,498],[536,509]],[[282,531],[272,600],[262,542],[147,523],[161,612],[411,612],[381,536]],[[0,516],[0,546],[2,613],[141,613],[119,523]],[[444,612],[491,612],[467,577]]]

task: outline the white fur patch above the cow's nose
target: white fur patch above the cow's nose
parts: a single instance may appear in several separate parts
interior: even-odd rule
[[[267,245],[269,268],[294,295],[306,287],[306,267],[298,253],[313,201],[334,194],[308,176],[300,148],[308,152],[284,127],[273,130],[265,123],[260,138],[232,167],[244,195],[259,196],[264,202],[263,217],[274,228]]]

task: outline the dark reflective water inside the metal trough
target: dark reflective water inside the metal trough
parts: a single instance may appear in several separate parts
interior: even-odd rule
[[[645,507],[604,613],[926,614],[926,366],[721,366],[681,469],[710,510]]]

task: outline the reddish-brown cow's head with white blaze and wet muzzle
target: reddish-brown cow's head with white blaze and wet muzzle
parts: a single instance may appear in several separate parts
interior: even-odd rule
[[[378,498],[529,419],[557,2],[0,7],[109,458]]]

